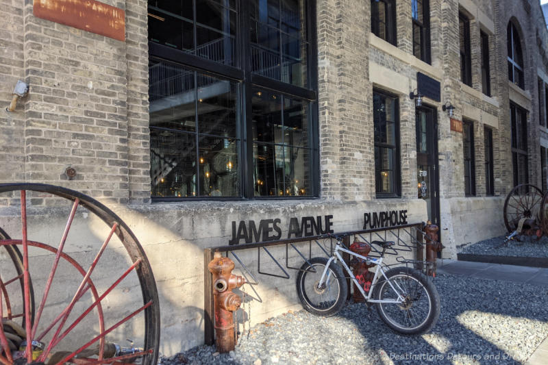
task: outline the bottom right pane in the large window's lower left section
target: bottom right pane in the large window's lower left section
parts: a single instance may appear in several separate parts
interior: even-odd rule
[[[238,140],[201,136],[198,146],[200,196],[238,197]]]

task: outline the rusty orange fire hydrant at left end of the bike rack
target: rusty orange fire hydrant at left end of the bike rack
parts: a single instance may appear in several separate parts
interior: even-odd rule
[[[220,252],[213,255],[208,264],[213,275],[213,301],[215,307],[215,345],[220,353],[227,353],[236,347],[233,312],[242,305],[242,299],[232,292],[245,284],[241,276],[232,275],[234,262]]]

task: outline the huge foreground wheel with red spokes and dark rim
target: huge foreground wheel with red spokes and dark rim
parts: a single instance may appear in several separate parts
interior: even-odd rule
[[[59,186],[0,184],[0,199],[20,205],[0,215],[0,364],[155,365],[158,291],[129,227]]]

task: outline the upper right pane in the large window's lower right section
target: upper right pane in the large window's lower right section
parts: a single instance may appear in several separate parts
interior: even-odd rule
[[[284,97],[284,144],[309,147],[308,101]]]

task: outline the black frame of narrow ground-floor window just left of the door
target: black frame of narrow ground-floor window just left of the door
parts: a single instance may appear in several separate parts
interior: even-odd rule
[[[379,181],[381,181],[382,177],[380,176],[381,169],[379,166],[377,166],[377,156],[375,155],[375,197],[377,199],[384,199],[384,198],[400,198],[401,197],[401,159],[400,159],[400,134],[399,134],[399,124],[400,124],[400,113],[399,113],[399,97],[395,94],[392,94],[390,92],[386,92],[385,90],[379,89],[379,88],[373,88],[373,95],[378,94],[382,95],[384,97],[388,97],[390,99],[394,100],[394,110],[395,110],[395,121],[394,121],[394,127],[395,127],[395,144],[388,144],[384,142],[377,142],[375,140],[375,112],[373,112],[373,141],[376,151],[377,147],[379,148],[388,148],[393,149],[393,161],[392,164],[394,166],[393,173],[394,173],[394,179],[392,182],[391,192],[379,192],[377,189],[377,186],[379,185]],[[374,99],[374,97],[373,97]],[[374,101],[373,101],[374,103]],[[374,108],[374,107],[373,107]]]

